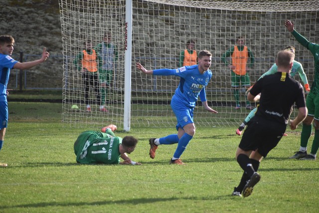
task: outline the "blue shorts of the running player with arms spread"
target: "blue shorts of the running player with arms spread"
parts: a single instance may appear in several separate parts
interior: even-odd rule
[[[194,123],[194,107],[186,107],[183,104],[180,104],[180,102],[176,102],[174,98],[171,99],[170,106],[176,116],[177,131],[179,128],[183,128],[186,124]]]

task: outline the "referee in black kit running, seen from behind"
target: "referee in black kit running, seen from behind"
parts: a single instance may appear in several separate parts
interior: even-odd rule
[[[253,187],[260,181],[257,170],[262,158],[277,146],[287,124],[295,130],[307,116],[303,87],[289,74],[294,58],[290,51],[278,52],[278,72],[258,80],[247,95],[249,101],[259,100],[259,104],[236,151],[236,160],[244,174],[239,186],[234,189],[234,196],[251,195]],[[299,112],[294,120],[289,120],[294,103]]]

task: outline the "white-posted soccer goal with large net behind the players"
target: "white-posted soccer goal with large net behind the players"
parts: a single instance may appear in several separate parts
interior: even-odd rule
[[[284,22],[291,19],[298,32],[319,43],[318,0],[59,0],[59,5],[64,54],[62,120],[72,126],[114,123],[126,131],[136,126],[174,127],[169,104],[179,78],[147,76],[135,64],[140,62],[147,69],[176,68],[190,39],[197,52],[207,49],[213,54],[213,77],[206,93],[209,105],[218,111],[206,112],[199,101],[194,111],[197,126],[237,126],[250,112],[244,88],[237,92],[241,108],[235,109],[231,71],[221,59],[239,36],[254,56],[248,71],[251,84],[288,45],[295,46],[295,60],[303,64],[310,85],[315,77],[312,54],[286,30]],[[99,110],[93,89],[92,111],[87,112],[83,79],[73,61],[85,49],[85,40],[96,46],[107,32],[117,49],[106,93],[108,113]],[[301,81],[298,75],[295,79]]]

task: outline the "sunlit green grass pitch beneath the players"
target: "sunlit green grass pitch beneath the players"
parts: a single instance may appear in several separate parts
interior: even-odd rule
[[[289,132],[261,163],[262,179],[248,198],[230,196],[242,170],[235,161],[235,128],[198,128],[182,160],[176,145],[149,157],[148,140],[173,128],[132,128],[139,144],[130,157],[142,166],[79,165],[73,143],[86,129],[61,123],[61,104],[9,102],[0,151],[1,213],[314,213],[319,211],[319,161],[289,160],[300,131]],[[313,136],[311,137],[312,141]],[[309,146],[311,143],[309,144]],[[310,147],[309,147],[310,149]]]

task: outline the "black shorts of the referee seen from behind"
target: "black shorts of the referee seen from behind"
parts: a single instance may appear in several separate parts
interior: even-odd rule
[[[253,117],[239,143],[245,151],[258,149],[259,154],[266,157],[274,149],[286,131],[286,124],[270,121],[259,116]]]

